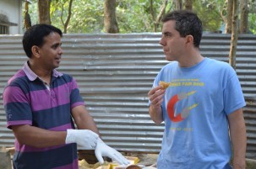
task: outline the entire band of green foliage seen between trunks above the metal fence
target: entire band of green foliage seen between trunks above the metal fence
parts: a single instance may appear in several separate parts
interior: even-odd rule
[[[32,24],[38,24],[37,0],[31,0],[30,18]],[[117,0],[117,23],[120,33],[154,32],[155,18],[160,13],[164,0],[153,1],[153,13],[150,0]],[[169,1],[166,13],[173,9]],[[193,11],[203,21],[204,31],[218,31],[224,23],[221,18],[226,15],[224,0],[193,0]],[[69,0],[52,0],[52,25],[63,30],[63,23],[68,17]],[[256,34],[256,1],[248,1],[249,29]],[[62,21],[63,19],[63,21]],[[161,31],[161,26],[157,28]],[[68,33],[101,33],[104,32],[104,0],[74,0],[72,16],[68,24]]]

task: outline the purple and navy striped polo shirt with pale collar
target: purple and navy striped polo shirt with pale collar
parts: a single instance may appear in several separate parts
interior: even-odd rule
[[[74,78],[52,71],[49,87],[30,70],[26,62],[8,81],[3,92],[7,127],[29,124],[41,129],[66,131],[74,129],[71,109],[84,105]],[[76,144],[35,148],[15,140],[14,168],[72,169],[78,168]]]

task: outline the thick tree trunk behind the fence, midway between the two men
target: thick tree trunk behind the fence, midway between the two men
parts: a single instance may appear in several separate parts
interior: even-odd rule
[[[104,27],[106,33],[119,33],[116,18],[116,0],[105,0],[104,4]]]

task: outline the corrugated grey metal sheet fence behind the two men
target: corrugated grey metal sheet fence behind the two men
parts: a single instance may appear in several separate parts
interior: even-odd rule
[[[22,36],[0,36],[0,94],[27,60]],[[161,149],[163,124],[148,114],[152,82],[165,56],[158,41],[161,34],[65,34],[59,71],[75,77],[88,110],[103,140],[119,151],[155,153]],[[204,56],[228,61],[230,34],[204,34]],[[247,157],[256,159],[256,37],[241,34],[237,46],[237,75],[247,101],[244,109],[248,131]],[[13,146],[14,135],[6,129],[0,101],[0,146]]]

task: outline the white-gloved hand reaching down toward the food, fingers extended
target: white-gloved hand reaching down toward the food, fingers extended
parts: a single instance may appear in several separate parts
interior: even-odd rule
[[[129,161],[120,152],[106,145],[100,137],[97,140],[95,156],[101,164],[104,162],[102,156],[108,156],[112,158],[112,161],[117,161],[120,165],[129,164]]]

